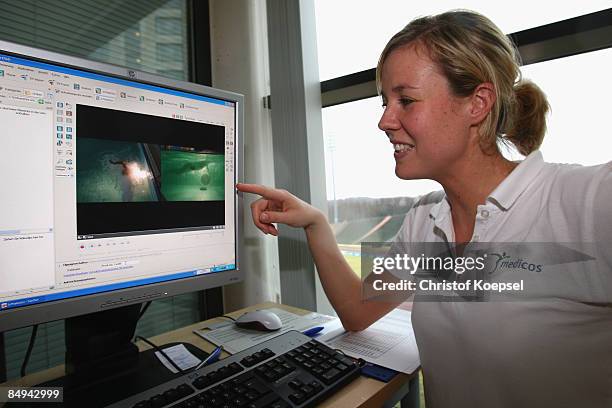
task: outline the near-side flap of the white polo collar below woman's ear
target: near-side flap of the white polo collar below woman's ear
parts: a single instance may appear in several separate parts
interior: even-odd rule
[[[487,201],[508,210],[544,168],[542,152],[531,152],[487,198]]]

